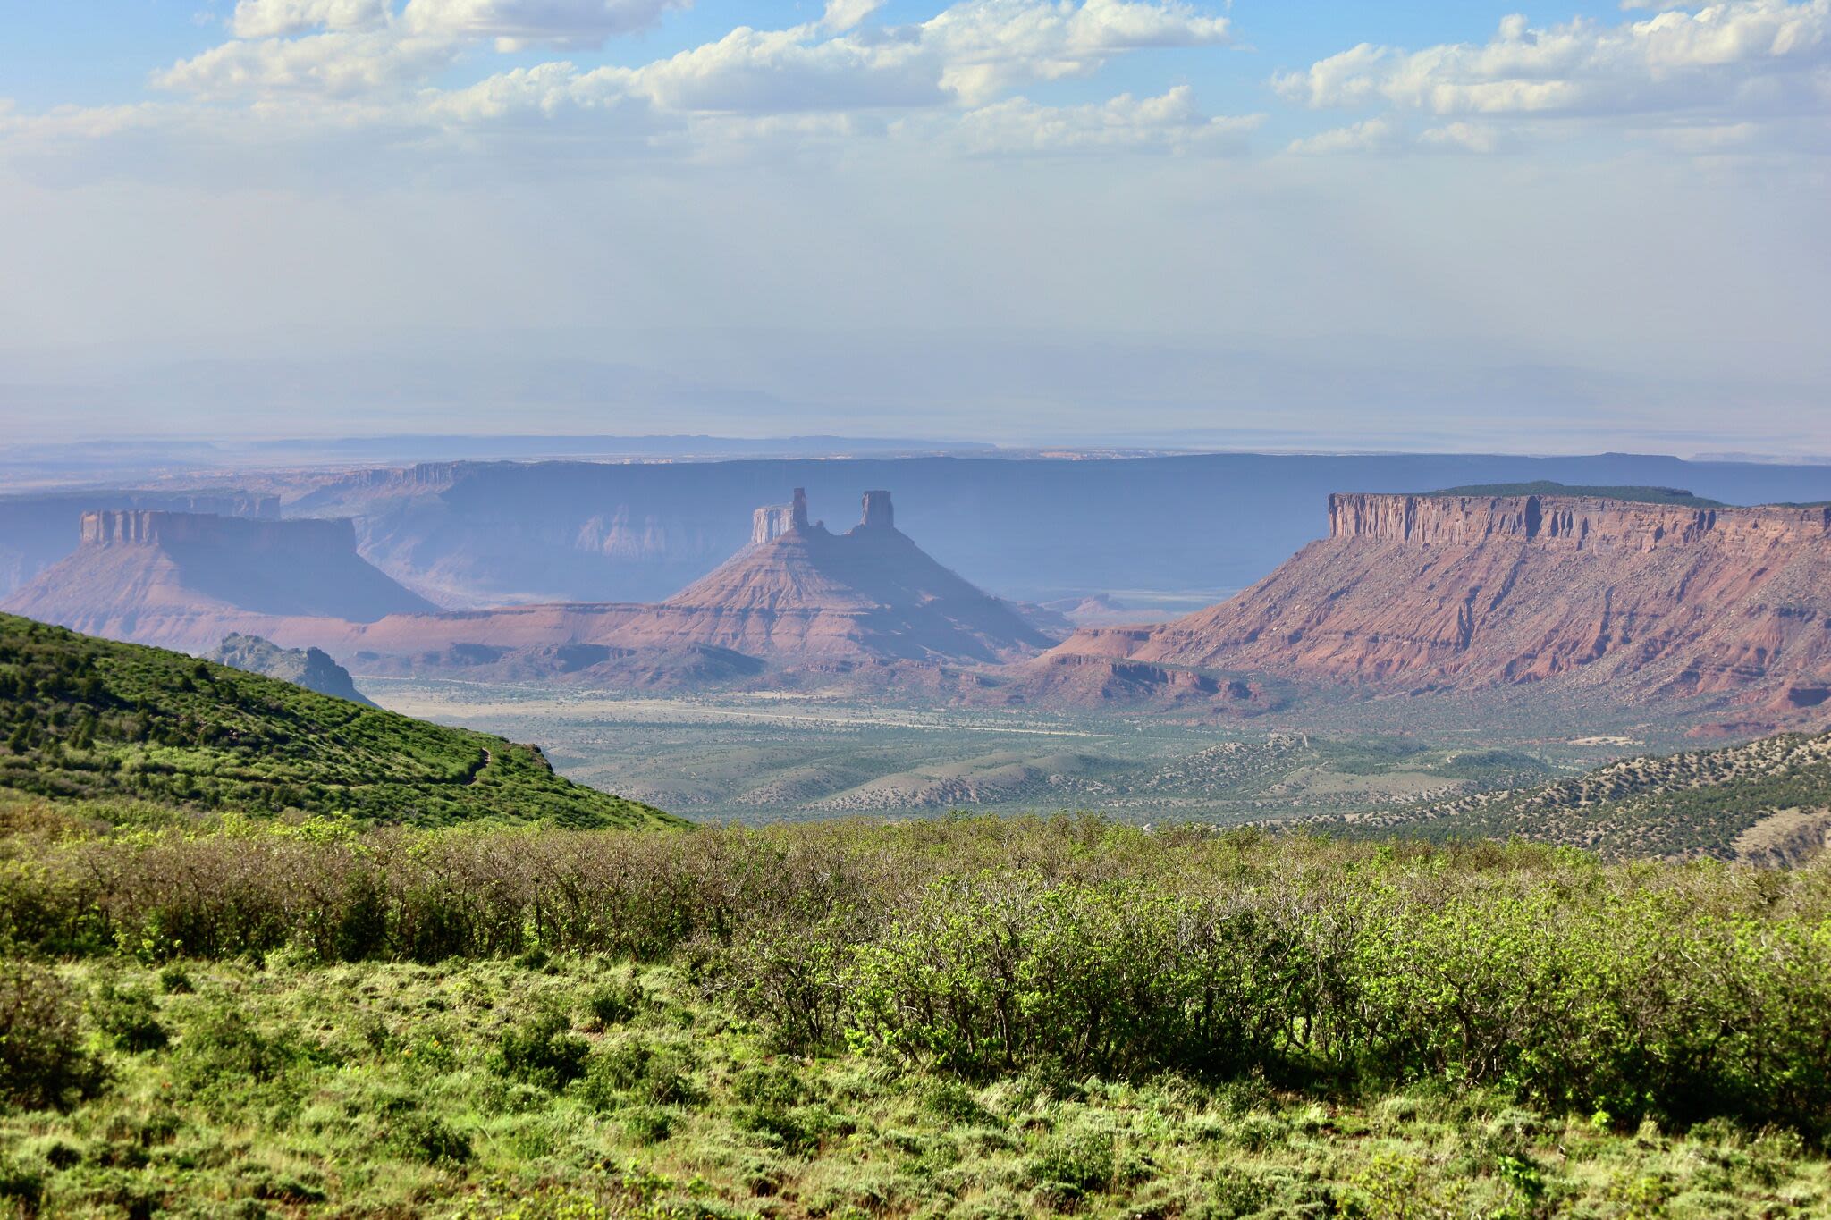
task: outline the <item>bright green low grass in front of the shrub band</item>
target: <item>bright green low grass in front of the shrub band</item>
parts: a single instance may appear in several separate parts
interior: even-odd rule
[[[106,1090],[0,1118],[59,1216],[1809,1216],[1783,1130],[1049,1065],[780,1054],[690,969],[595,955],[66,964]],[[104,1032],[141,997],[165,1039]],[[557,1048],[555,1048],[557,1044]],[[518,1050],[515,1050],[518,1048]],[[533,1048],[533,1050],[531,1050]],[[551,1063],[566,1065],[551,1070]]]

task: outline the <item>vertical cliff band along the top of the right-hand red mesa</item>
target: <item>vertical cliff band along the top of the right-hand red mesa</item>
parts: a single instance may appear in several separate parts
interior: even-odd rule
[[[1653,551],[1701,541],[1831,538],[1831,508],[1696,508],[1593,496],[1329,496],[1329,536],[1417,547],[1531,541],[1573,551]]]

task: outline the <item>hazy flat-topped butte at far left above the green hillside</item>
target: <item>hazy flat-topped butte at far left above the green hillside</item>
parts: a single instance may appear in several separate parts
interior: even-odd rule
[[[350,521],[198,512],[84,512],[73,554],[4,609],[137,644],[207,651],[278,638],[295,620],[374,622],[434,609],[366,563]]]

